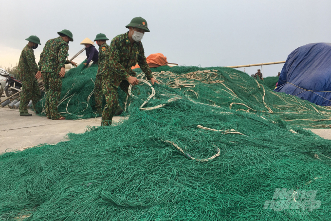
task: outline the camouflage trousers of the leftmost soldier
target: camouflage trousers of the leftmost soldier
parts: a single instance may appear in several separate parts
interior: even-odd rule
[[[36,110],[37,102],[40,100],[40,89],[38,81],[35,80],[22,80],[22,92],[19,103],[19,112],[28,112],[27,105],[32,100],[34,109]]]

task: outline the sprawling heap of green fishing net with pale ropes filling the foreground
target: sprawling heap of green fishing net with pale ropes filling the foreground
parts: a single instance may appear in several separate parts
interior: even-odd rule
[[[120,92],[126,120],[0,155],[0,220],[328,220],[331,141],[303,129],[330,127],[328,108],[231,68],[152,71],[159,85]],[[86,102],[89,72],[62,98]]]

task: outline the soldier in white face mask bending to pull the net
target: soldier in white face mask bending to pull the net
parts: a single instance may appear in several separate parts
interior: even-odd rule
[[[135,72],[131,67],[138,62],[152,84],[158,83],[146,61],[142,40],[145,31],[149,32],[147,21],[136,17],[126,26],[129,32],[116,36],[110,43],[110,57],[106,60],[102,73],[102,91],[106,98],[106,106],[102,112],[101,126],[111,125],[111,119],[118,106],[117,88],[128,93],[129,84],[137,85]]]

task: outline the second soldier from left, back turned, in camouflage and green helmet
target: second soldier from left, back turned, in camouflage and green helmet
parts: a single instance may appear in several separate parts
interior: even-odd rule
[[[69,41],[73,41],[73,34],[69,30],[57,32],[59,37],[48,40],[45,44],[39,60],[39,71],[36,78],[41,75],[44,79],[45,114],[48,119],[65,120],[57,110],[57,104],[61,96],[62,78],[65,75],[64,64],[69,49]]]

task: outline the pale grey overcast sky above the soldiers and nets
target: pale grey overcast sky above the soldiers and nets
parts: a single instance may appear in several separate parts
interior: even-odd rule
[[[0,0],[0,8],[2,67],[18,62],[30,35],[41,41],[38,61],[45,42],[69,29],[71,58],[85,38],[104,33],[112,39],[139,16],[150,29],[142,40],[146,57],[162,53],[180,65],[282,61],[299,46],[331,42],[331,0]],[[82,54],[76,62],[83,59]],[[264,66],[264,77],[276,76],[282,67]],[[257,68],[245,70],[254,74]]]

